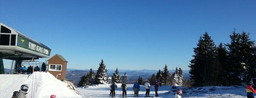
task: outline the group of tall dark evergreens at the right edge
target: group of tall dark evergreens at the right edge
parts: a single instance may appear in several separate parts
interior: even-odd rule
[[[256,78],[256,47],[249,33],[229,35],[230,43],[216,46],[207,32],[200,36],[190,61],[193,86],[244,85]]]

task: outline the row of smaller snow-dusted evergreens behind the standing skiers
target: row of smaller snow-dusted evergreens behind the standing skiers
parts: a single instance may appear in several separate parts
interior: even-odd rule
[[[99,64],[99,68],[97,70],[97,73],[95,74],[92,70],[87,73],[87,75],[83,75],[80,77],[79,83],[77,84],[78,87],[80,86],[88,86],[92,84],[106,84],[110,83],[108,81],[108,75],[107,75],[107,69],[105,69],[104,61],[101,60]],[[155,84],[155,80],[160,82],[160,86],[163,85],[174,85],[174,86],[183,86],[183,72],[181,68],[177,68],[173,74],[171,74],[168,71],[167,65],[163,68],[163,71],[159,69],[159,71],[155,74],[152,74],[151,78],[147,79],[150,81],[150,84]],[[124,75],[120,75],[118,68],[116,68],[115,73],[111,76],[111,82],[115,83],[122,83],[127,81],[127,75],[126,72]],[[145,80],[142,79],[142,77],[138,76],[138,83],[144,84]]]

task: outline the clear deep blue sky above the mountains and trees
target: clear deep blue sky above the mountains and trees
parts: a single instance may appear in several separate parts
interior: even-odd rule
[[[188,70],[206,31],[256,40],[255,0],[2,0],[0,22],[62,55],[67,68]],[[42,58],[41,61],[49,58]],[[10,68],[5,61],[5,68]]]

